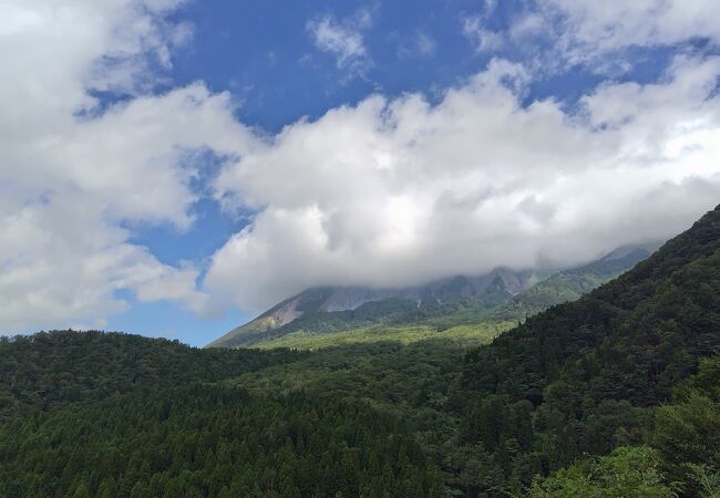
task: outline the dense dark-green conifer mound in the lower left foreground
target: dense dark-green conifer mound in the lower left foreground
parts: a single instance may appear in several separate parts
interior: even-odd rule
[[[0,425],[2,496],[439,496],[392,417],[363,405],[195,385]]]

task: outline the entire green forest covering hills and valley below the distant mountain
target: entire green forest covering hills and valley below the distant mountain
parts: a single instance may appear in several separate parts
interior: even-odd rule
[[[486,345],[6,339],[0,496],[720,496],[720,208]]]

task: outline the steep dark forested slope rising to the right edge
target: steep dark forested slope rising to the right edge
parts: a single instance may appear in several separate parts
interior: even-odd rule
[[[656,407],[673,390],[682,394],[677,386],[697,373],[701,359],[718,353],[720,207],[619,278],[466,354],[445,407],[460,414],[457,455],[475,452],[475,461],[491,464],[472,487],[462,479],[455,485],[471,496],[502,496],[498,481],[512,489],[517,479],[528,484],[533,473],[586,455],[657,444]],[[712,408],[701,409],[676,422],[693,434],[719,426]],[[672,424],[666,430],[675,430]],[[678,434],[664,437],[682,446]],[[682,464],[662,457],[685,486],[681,496],[697,496],[690,465],[720,471],[701,449]],[[459,460],[451,471],[462,474],[464,465]]]

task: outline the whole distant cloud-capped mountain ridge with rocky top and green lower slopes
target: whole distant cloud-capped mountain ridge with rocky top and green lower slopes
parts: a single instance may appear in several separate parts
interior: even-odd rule
[[[439,330],[477,321],[520,321],[573,301],[647,258],[659,245],[616,249],[586,266],[543,272],[497,268],[402,289],[317,288],[289,298],[208,347],[251,346],[300,331],[341,332],[371,324],[424,323]]]

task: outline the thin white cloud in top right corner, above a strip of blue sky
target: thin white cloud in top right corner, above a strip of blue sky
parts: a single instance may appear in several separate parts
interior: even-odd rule
[[[528,1],[508,32],[526,52],[544,46],[544,53],[534,53],[538,66],[557,71],[583,64],[599,73],[624,73],[632,68],[628,50],[690,41],[717,46],[717,7],[713,0]]]

